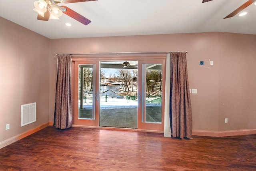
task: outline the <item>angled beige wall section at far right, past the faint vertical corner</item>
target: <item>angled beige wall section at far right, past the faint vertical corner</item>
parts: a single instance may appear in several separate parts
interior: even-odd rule
[[[255,129],[256,35],[221,34],[220,40],[219,129]]]

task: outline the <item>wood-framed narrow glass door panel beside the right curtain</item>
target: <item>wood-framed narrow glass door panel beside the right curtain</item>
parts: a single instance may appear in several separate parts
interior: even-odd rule
[[[164,86],[165,60],[144,60],[139,62],[140,120],[138,129],[163,130],[164,128]]]

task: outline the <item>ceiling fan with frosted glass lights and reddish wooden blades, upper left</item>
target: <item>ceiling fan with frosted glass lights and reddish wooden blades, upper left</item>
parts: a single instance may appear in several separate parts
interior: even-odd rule
[[[48,21],[49,19],[59,19],[62,16],[62,13],[74,18],[78,22],[87,25],[91,21],[85,18],[84,16],[78,14],[77,12],[71,10],[66,6],[59,6],[60,2],[65,4],[74,3],[74,2],[86,2],[94,0],[38,0],[34,2],[35,8],[33,9],[38,15],[37,20]]]

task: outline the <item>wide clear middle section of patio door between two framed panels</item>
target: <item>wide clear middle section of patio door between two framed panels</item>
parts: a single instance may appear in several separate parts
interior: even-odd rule
[[[138,62],[108,61],[100,67],[100,126],[137,128]]]

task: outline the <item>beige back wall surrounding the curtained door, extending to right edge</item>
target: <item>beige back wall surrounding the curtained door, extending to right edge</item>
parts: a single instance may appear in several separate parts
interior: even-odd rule
[[[165,34],[52,39],[50,52],[50,121],[54,117],[56,53],[188,50],[193,129],[256,129],[256,35],[230,33]],[[199,61],[210,59],[205,68]],[[125,59],[124,59],[125,60]],[[228,123],[224,123],[228,118]]]

